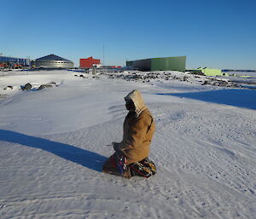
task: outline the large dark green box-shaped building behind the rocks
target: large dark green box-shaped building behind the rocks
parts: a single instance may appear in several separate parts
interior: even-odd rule
[[[186,56],[152,58],[146,60],[126,61],[126,66],[141,71],[186,71]]]

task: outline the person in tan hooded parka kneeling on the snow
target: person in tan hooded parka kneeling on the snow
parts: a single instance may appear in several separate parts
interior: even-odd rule
[[[125,96],[125,107],[129,112],[125,117],[123,140],[113,142],[115,153],[103,164],[102,171],[125,178],[149,177],[156,172],[154,163],[148,159],[154,118],[137,89]]]

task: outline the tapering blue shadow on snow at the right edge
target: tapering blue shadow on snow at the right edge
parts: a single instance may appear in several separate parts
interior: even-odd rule
[[[157,95],[173,95],[199,101],[256,109],[256,90],[249,89],[218,89],[205,92],[165,93]]]

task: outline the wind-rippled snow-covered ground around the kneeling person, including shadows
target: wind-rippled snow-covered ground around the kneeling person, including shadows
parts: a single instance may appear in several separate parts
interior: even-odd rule
[[[0,218],[255,219],[256,90],[165,74],[0,76]],[[149,179],[101,172],[132,89],[156,121]]]

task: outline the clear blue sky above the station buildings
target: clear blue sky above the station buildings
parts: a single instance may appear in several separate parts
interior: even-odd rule
[[[256,69],[256,1],[0,1],[0,53],[79,66],[187,55],[187,68]]]

